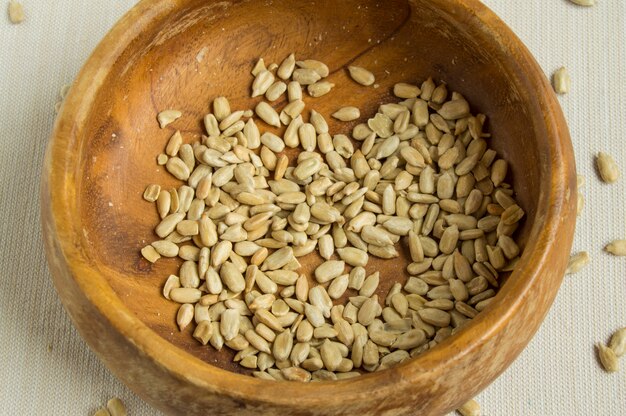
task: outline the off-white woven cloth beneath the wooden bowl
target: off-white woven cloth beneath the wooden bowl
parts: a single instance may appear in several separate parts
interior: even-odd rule
[[[73,328],[50,281],[39,226],[39,176],[60,88],[133,0],[20,0],[26,21],[0,10],[0,414],[89,415],[112,396],[132,416],[157,415],[98,361]],[[520,358],[477,400],[484,415],[626,415],[626,359],[604,373],[594,343],[626,326],[626,260],[602,247],[626,237],[626,178],[605,185],[593,155],[613,154],[626,174],[626,6],[599,0],[485,1],[550,75],[572,76],[560,98],[586,207],[575,250],[592,262],[567,277]],[[49,349],[49,346],[51,349]]]

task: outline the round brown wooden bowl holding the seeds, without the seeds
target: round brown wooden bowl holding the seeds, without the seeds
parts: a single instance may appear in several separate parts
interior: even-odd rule
[[[515,272],[464,330],[392,370],[333,383],[272,383],[238,374],[232,354],[175,327],[161,286],[175,260],[139,249],[156,237],[149,183],[177,186],[156,165],[173,128],[199,138],[217,95],[251,108],[250,70],[288,53],[328,64],[337,87],[306,98],[322,114],[358,105],[363,119],[400,81],[445,80],[485,113],[527,213]],[[348,80],[357,64],[378,88]],[[282,103],[278,104],[282,106]],[[182,110],[160,130],[156,113]],[[330,118],[328,118],[330,120]],[[348,132],[354,123],[333,123]],[[144,0],[78,75],[48,145],[42,222],[56,288],[105,364],[155,407],[178,415],[438,415],[493,381],[537,330],[560,285],[575,223],[575,167],[563,115],[541,69],[477,0]],[[318,261],[311,259],[305,268]],[[371,262],[386,292],[404,258]]]

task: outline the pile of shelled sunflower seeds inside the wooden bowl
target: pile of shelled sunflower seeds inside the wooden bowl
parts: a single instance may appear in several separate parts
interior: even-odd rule
[[[312,97],[334,87],[325,64],[292,54],[268,67],[261,59],[252,74],[252,96],[266,99],[256,116],[284,132],[215,98],[207,136],[187,144],[176,131],[157,158],[185,184],[144,193],[161,222],[143,256],[183,260],[163,287],[180,304],[181,331],[194,322],[193,337],[235,350],[258,378],[336,380],[433,348],[489,305],[499,273],[519,258],[512,235],[524,211],[484,115],[429,78],[396,84],[398,102],[380,105],[351,138],[331,135],[322,114],[303,116],[303,87]],[[363,86],[375,79],[360,67],[349,74]],[[284,93],[277,111],[268,102]],[[338,120],[360,116],[337,110]],[[181,115],[165,110],[158,121]],[[300,147],[290,166],[285,149]],[[379,298],[386,276],[368,260],[394,259],[402,246],[409,277]],[[314,251],[321,262],[307,276],[299,259]]]

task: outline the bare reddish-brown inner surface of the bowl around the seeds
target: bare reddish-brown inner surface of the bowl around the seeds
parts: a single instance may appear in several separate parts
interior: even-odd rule
[[[527,216],[518,231],[522,244],[535,221],[539,200],[541,127],[523,104],[525,80],[519,68],[505,66],[505,56],[486,42],[472,25],[455,21],[428,0],[345,0],[322,7],[320,2],[238,2],[205,0],[188,4],[148,25],[123,52],[98,92],[79,133],[75,175],[76,218],[84,230],[84,250],[124,304],[149,328],[174,346],[203,361],[241,372],[228,349],[216,352],[175,325],[177,305],[161,295],[162,285],[175,273],[178,260],[151,265],[139,250],[158,239],[153,229],[159,218],[142,194],[151,183],[169,189],[181,185],[156,157],[176,130],[185,142],[198,141],[202,117],[213,98],[228,97],[231,108],[254,108],[252,69],[260,57],[280,63],[290,52],[297,58],[325,62],[328,80],[336,87],[320,98],[308,97],[308,109],[322,113],[331,134],[349,134],[371,117],[380,103],[395,101],[396,82],[418,85],[428,76],[462,93],[473,112],[487,115],[490,145],[510,162],[512,182]],[[454,6],[451,6],[454,9]],[[370,69],[377,87],[352,82],[348,65]],[[282,108],[285,100],[274,103]],[[361,109],[361,119],[336,122],[330,114],[342,106]],[[156,114],[178,109],[183,116],[160,129]],[[261,128],[268,128],[259,122]],[[380,271],[380,295],[407,278],[407,253],[396,260],[371,258],[368,274]],[[321,263],[311,254],[304,272]],[[515,274],[512,278],[515,278]],[[349,291],[348,295],[353,293]]]

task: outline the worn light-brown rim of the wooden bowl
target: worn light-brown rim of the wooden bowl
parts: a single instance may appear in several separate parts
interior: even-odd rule
[[[571,157],[572,151],[569,133],[564,127],[565,122],[556,97],[530,52],[511,29],[479,0],[431,0],[431,3],[444,10],[455,7],[469,11],[473,18],[477,19],[474,25],[481,24],[485,36],[494,39],[498,43],[498,48],[515,56],[518,65],[525,67],[528,74],[527,82],[535,87],[537,105],[545,114],[545,125],[542,127],[546,130],[547,140],[541,150],[545,150],[552,157],[550,163],[541,168],[537,216],[520,259],[521,267],[513,272],[509,282],[498,292],[489,308],[473,319],[463,331],[459,331],[435,349],[394,367],[392,371],[397,375],[394,377],[394,383],[379,382],[382,374],[386,373],[383,371],[334,383],[281,383],[281,394],[276,394],[274,389],[265,388],[268,385],[264,380],[211,366],[173,346],[136,317],[108,286],[106,279],[97,270],[89,267],[85,253],[76,249],[83,244],[83,236],[82,230],[72,219],[72,213],[77,211],[76,204],[73,203],[76,201],[77,192],[73,186],[77,181],[73,163],[78,160],[77,152],[72,150],[76,149],[82,125],[89,116],[90,103],[97,97],[108,69],[136,37],[139,28],[153,19],[159,19],[183,7],[189,1],[142,0],[116,23],[77,76],[62,113],[55,123],[46,152],[41,197],[42,202],[46,200],[50,202],[49,206],[42,203],[42,211],[46,210],[46,214],[42,215],[44,229],[49,231],[49,238],[52,238],[50,236],[56,238],[60,255],[78,287],[111,326],[121,336],[131,340],[134,346],[152,361],[181,380],[193,383],[207,392],[235,399],[248,398],[249,393],[254,392],[255,401],[275,406],[288,406],[293,403],[295,397],[302,406],[321,405],[325,397],[328,397],[327,394],[344,394],[343,397],[347,401],[357,397],[355,391],[365,392],[360,394],[367,394],[370,398],[373,396],[384,400],[401,388],[409,388],[421,373],[441,372],[445,367],[454,365],[461,356],[470,354],[493,338],[505,326],[506,321],[523,307],[530,290],[538,279],[542,278],[549,263],[547,260],[554,254],[555,243],[560,241],[559,230],[567,226],[561,220],[570,217],[575,210],[576,195],[575,193],[570,195],[573,159],[565,163],[558,162],[559,158]],[[74,91],[80,91],[80,96]],[[65,135],[64,132],[67,131],[71,131],[72,134]],[[59,158],[63,160],[64,169],[53,172],[51,160]],[[60,194],[47,191],[60,188],[68,189],[68,192]],[[571,228],[573,229],[573,225]],[[46,241],[49,262],[53,261],[50,249],[53,244]],[[571,241],[568,244],[571,244]],[[552,300],[549,299],[545,312]],[[480,337],[475,336],[478,331]],[[168,354],[163,354],[164,350],[167,350]]]

